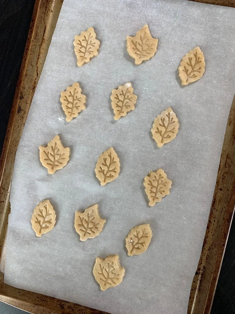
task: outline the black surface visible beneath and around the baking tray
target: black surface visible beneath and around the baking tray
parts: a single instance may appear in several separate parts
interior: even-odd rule
[[[0,0],[0,152],[2,151],[8,118],[24,54],[24,46],[29,31],[34,2],[34,0]],[[0,314],[2,313],[20,314],[26,312],[16,310],[9,305],[0,303]],[[235,218],[232,222],[211,314],[234,313]]]

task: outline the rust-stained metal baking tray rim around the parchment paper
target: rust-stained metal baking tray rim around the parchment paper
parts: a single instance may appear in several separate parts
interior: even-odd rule
[[[235,7],[234,1],[198,1]],[[98,314],[104,312],[46,295],[13,288],[3,283],[5,237],[8,214],[10,213],[9,196],[15,154],[62,2],[63,0],[36,0],[0,159],[0,300],[35,314],[51,314],[52,312],[57,314]],[[206,236],[199,266],[192,284],[188,307],[189,314],[209,313],[232,219],[231,208],[234,204],[232,176],[235,177],[235,162],[234,157],[231,156],[232,151],[234,151],[234,142],[231,139],[234,138],[234,107],[233,102]],[[220,207],[218,204],[220,204]],[[210,249],[212,247],[213,250]]]

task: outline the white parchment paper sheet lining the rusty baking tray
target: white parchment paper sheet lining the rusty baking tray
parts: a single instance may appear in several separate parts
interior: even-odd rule
[[[156,55],[136,66],[126,36],[149,25],[159,39]],[[79,68],[74,36],[94,27],[99,54]],[[4,282],[112,313],[186,313],[201,253],[229,109],[235,91],[235,10],[190,1],[65,0],[16,154],[11,187]],[[181,87],[180,59],[200,46],[203,77]],[[79,82],[87,109],[66,122],[60,92]],[[113,88],[132,82],[136,109],[113,120]],[[154,118],[172,107],[177,137],[158,149]],[[60,134],[70,161],[55,174],[39,161],[39,145]],[[113,146],[119,177],[101,187],[94,172],[99,155]],[[170,195],[149,207],[143,179],[164,169]],[[49,198],[57,222],[37,238],[30,219]],[[75,211],[98,203],[107,223],[85,242],[74,228]],[[124,239],[149,223],[148,250],[129,257]],[[95,258],[119,254],[123,282],[103,292],[92,269]]]

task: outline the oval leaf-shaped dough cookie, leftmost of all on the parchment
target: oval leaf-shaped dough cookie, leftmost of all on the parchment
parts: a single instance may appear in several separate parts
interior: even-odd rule
[[[35,208],[31,218],[32,228],[36,232],[36,236],[42,236],[49,232],[55,226],[55,210],[49,199],[40,202]]]

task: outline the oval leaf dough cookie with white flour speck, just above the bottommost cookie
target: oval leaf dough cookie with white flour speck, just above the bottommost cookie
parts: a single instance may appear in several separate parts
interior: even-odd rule
[[[126,248],[129,256],[144,253],[153,234],[149,224],[139,225],[131,229],[126,237]]]

